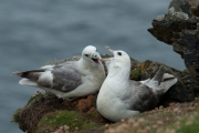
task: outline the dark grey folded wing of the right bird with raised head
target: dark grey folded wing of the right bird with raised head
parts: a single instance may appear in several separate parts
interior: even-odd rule
[[[150,88],[139,82],[132,82],[130,104],[133,110],[140,112],[153,110],[157,106],[158,98]]]

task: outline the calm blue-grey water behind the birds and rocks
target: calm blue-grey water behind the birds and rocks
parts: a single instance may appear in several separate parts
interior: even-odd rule
[[[185,69],[170,45],[147,29],[170,0],[0,0],[0,133],[20,133],[10,123],[36,89],[21,86],[13,71],[35,69],[48,60],[81,54],[86,45],[104,45],[144,61]]]

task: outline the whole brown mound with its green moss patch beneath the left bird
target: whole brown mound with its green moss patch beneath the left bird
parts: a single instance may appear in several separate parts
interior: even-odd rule
[[[108,122],[96,111],[95,102],[96,95],[69,102],[46,93],[36,99],[31,98],[29,104],[14,113],[14,122],[28,133],[54,132],[67,125],[70,129],[66,127],[66,131],[70,132],[75,129],[95,130]]]

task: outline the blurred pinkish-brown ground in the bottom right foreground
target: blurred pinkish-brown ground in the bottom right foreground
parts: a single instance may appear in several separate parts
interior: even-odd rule
[[[171,103],[107,126],[105,133],[198,133],[198,100]]]

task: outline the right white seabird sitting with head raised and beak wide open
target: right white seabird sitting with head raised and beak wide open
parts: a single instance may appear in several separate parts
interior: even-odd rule
[[[97,95],[97,111],[106,119],[117,122],[156,108],[158,100],[177,79],[164,72],[160,66],[153,79],[129,80],[130,59],[122,50],[113,51],[114,57],[103,59],[108,74]]]

